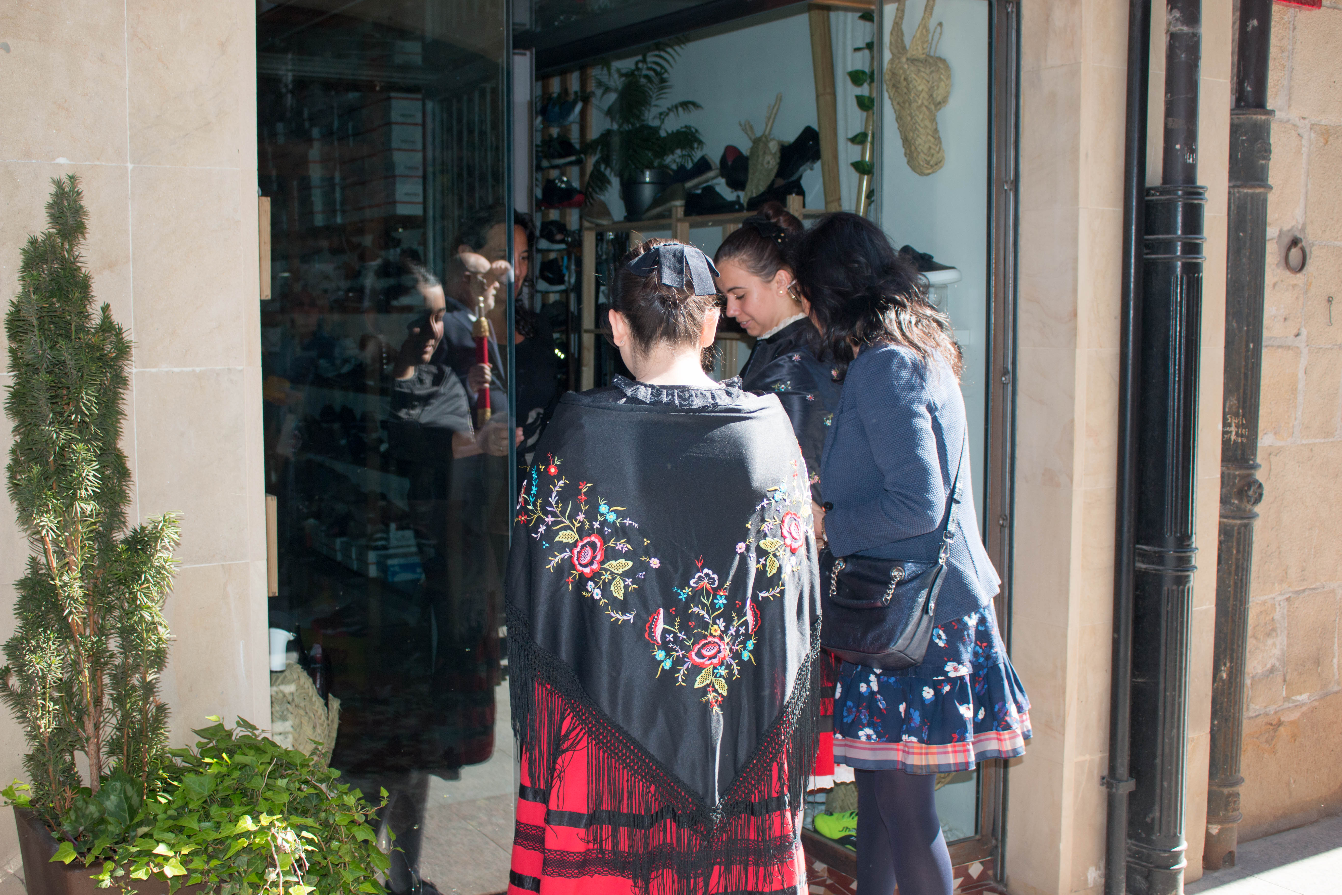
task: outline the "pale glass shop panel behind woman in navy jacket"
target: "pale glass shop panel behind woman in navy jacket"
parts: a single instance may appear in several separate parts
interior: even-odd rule
[[[925,275],[964,357],[974,503],[984,545],[1002,578],[997,619],[1009,649],[1016,4],[883,0],[874,12],[879,119],[872,213],[896,247],[911,246],[935,262]],[[929,58],[943,62],[931,67]],[[927,85],[921,85],[929,71]],[[950,270],[937,270],[941,266]],[[1001,875],[1000,865],[988,875],[970,871],[1001,859],[1004,790],[1001,761],[938,776],[937,813],[957,887]]]

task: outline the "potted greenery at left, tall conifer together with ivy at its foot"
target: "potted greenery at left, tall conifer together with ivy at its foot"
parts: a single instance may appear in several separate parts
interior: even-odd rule
[[[158,680],[178,527],[168,514],[126,530],[130,342],[106,305],[94,311],[78,181],[52,182],[5,317],[7,484],[32,553],[0,668],[31,782],[3,794],[28,892],[381,895],[374,808],[319,759],[243,719],[211,718],[195,749],[168,749]]]

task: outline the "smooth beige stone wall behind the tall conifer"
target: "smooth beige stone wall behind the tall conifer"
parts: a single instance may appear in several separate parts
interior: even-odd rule
[[[212,714],[268,725],[255,4],[5,0],[0,42],[0,299],[46,227],[51,177],[79,174],[94,294],[134,339],[129,515],[183,515],[162,687],[173,745]],[[0,455],[8,444],[4,420]],[[0,501],[0,640],[27,553]],[[23,751],[5,713],[0,781],[23,776]],[[19,867],[0,817],[0,892]]]

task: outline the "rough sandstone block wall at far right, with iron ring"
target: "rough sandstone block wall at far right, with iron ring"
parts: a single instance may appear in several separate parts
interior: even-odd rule
[[[1244,731],[1253,839],[1342,812],[1342,3],[1272,19],[1272,193]],[[1282,262],[1304,239],[1300,274]]]

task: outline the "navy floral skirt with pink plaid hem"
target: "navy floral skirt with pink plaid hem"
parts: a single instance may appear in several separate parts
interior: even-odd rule
[[[835,762],[914,774],[1016,758],[1029,739],[1029,698],[986,607],[933,631],[922,664],[899,671],[843,663],[835,687]]]

